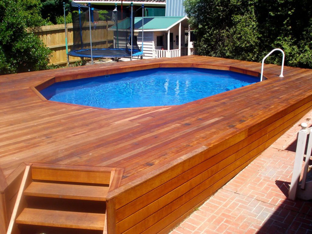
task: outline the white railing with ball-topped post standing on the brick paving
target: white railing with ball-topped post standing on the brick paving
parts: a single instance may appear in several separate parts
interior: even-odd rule
[[[298,132],[298,140],[297,140],[297,148],[295,155],[295,163],[293,175],[291,178],[290,188],[288,192],[288,198],[291,200],[295,200],[296,197],[301,199],[310,200],[312,199],[312,181],[306,181],[307,173],[309,170],[309,161],[311,157],[312,151],[312,127],[307,129],[307,124],[301,124],[301,130]],[[305,147],[308,140],[307,154],[305,155]],[[303,167],[303,176],[301,179],[301,185],[299,186],[300,175],[302,172],[302,161],[305,155],[305,163]]]

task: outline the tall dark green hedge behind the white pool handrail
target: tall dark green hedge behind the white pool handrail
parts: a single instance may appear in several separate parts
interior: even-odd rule
[[[186,0],[200,55],[261,61],[274,48],[285,64],[312,68],[311,0]],[[280,64],[281,56],[267,62]]]

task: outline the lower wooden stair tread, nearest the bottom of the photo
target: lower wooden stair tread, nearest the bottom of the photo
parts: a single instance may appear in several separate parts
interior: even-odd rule
[[[103,230],[105,214],[25,208],[16,223],[49,227]]]

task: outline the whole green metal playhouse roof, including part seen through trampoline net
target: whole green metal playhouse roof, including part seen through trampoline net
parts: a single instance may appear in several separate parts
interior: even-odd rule
[[[144,30],[165,30],[170,26],[175,25],[178,21],[185,16],[158,16],[158,17],[144,17]],[[130,21],[129,18],[124,19],[118,23],[118,30],[129,30]],[[134,29],[142,30],[142,17],[134,18]],[[109,28],[109,30],[116,30],[116,25]]]

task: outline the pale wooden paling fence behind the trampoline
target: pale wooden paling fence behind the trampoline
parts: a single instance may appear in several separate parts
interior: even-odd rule
[[[111,21],[99,21],[96,25],[96,28],[92,29],[92,46],[94,48],[108,48],[113,45],[113,31],[107,30],[108,27],[112,26],[113,24],[114,23]],[[68,51],[70,51],[73,45],[73,24],[69,23],[66,24],[66,26]],[[89,34],[89,24],[83,25],[82,31],[83,34]],[[30,29],[27,32],[31,32]],[[65,66],[67,59],[64,24],[41,26],[33,29],[32,32],[40,37],[46,47],[49,47],[53,51],[50,58],[50,64]],[[90,39],[88,41],[90,41]],[[69,61],[71,63],[79,60],[79,57],[69,56]]]

